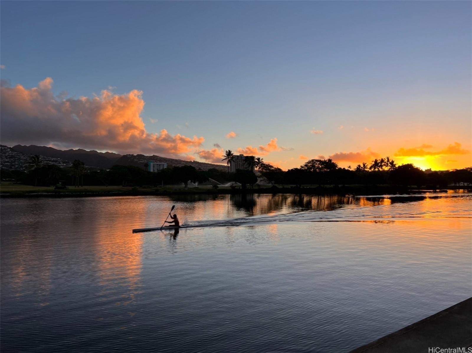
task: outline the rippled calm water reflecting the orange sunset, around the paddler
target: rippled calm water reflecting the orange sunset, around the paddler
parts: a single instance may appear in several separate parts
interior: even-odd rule
[[[472,295],[471,201],[2,199],[1,351],[348,351]]]

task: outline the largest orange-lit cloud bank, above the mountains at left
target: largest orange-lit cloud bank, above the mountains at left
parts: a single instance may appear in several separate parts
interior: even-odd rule
[[[1,139],[3,143],[26,143],[71,148],[109,149],[120,153],[179,156],[202,145],[203,137],[172,136],[145,130],[140,116],[142,91],[118,95],[101,91],[93,98],[61,99],[53,95],[50,77],[38,87],[21,85],[0,88]]]

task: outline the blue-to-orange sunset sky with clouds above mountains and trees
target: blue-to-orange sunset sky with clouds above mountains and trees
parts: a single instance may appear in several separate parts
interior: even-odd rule
[[[2,1],[1,144],[472,166],[470,1]]]

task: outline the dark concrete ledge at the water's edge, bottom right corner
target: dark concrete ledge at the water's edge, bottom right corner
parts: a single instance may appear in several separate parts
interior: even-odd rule
[[[472,297],[351,353],[428,353],[435,347],[465,347],[465,352],[472,347]]]

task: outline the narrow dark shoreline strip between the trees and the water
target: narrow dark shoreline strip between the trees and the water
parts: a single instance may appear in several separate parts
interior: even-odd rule
[[[87,187],[84,187],[86,189]],[[112,189],[110,187],[110,189]],[[176,195],[259,195],[259,194],[304,194],[304,195],[337,195],[341,197],[354,196],[379,196],[379,195],[421,195],[424,193],[439,193],[455,190],[464,192],[467,188],[446,188],[446,189],[412,189],[405,187],[364,187],[364,186],[344,186],[344,187],[316,187],[316,188],[260,188],[260,189],[174,189],[174,190],[156,190],[156,189],[137,189],[126,191],[85,191],[79,189],[71,190],[52,190],[47,192],[4,192],[0,193],[0,198],[29,198],[29,197],[114,197],[114,196],[176,196]]]

